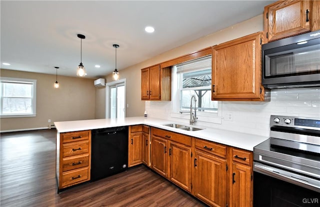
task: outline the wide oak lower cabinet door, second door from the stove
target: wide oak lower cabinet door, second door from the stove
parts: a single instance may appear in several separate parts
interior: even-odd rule
[[[211,206],[226,204],[226,160],[195,151],[194,195]]]

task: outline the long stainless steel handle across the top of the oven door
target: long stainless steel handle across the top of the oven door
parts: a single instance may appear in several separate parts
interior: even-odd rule
[[[282,169],[274,168],[264,164],[253,162],[253,171],[260,172],[271,177],[275,177],[311,190],[320,192],[320,181],[305,177],[292,172],[284,171]],[[254,179],[254,178],[253,178]]]

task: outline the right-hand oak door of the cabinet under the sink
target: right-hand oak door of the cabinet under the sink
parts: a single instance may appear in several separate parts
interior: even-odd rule
[[[169,179],[186,191],[191,191],[191,147],[170,142]]]

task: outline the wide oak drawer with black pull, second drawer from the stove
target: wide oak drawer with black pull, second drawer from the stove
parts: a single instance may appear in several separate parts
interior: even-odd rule
[[[225,158],[226,146],[224,145],[196,138],[195,148]]]

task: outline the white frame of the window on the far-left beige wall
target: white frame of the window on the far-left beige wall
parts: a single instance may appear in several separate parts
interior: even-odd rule
[[[32,84],[32,97],[31,97],[31,113],[14,113],[14,114],[2,114],[2,105],[3,105],[3,82],[29,82]],[[15,77],[1,77],[0,78],[0,117],[1,118],[16,118],[16,117],[34,117],[36,116],[36,80],[35,79],[26,79],[26,78],[15,78]]]

